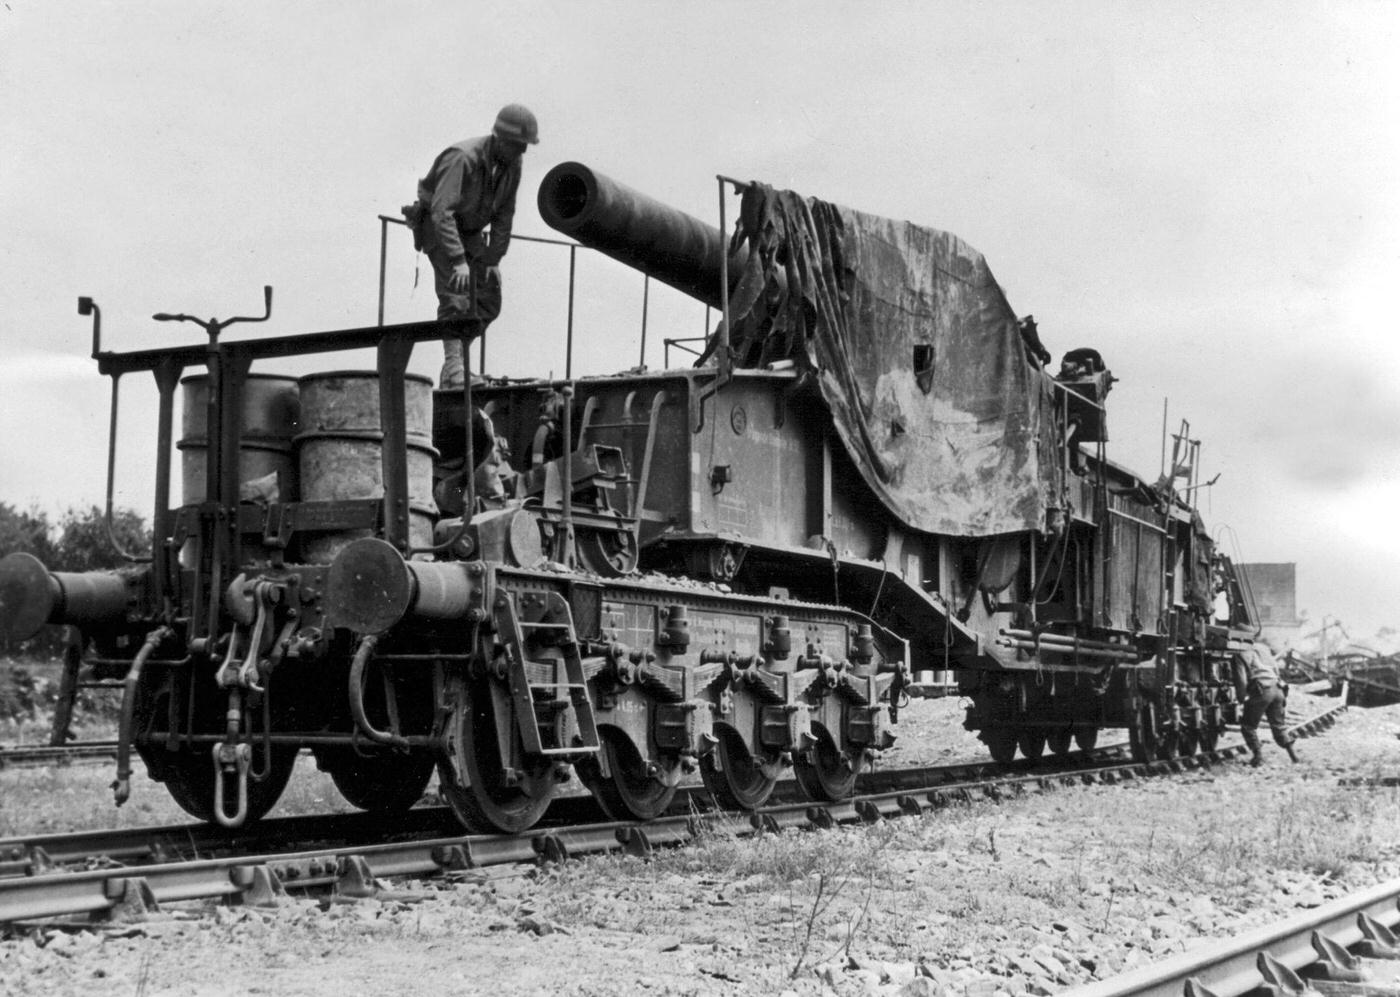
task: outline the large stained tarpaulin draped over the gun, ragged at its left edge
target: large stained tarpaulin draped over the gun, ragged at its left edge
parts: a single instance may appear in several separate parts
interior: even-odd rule
[[[1044,528],[1058,504],[1050,388],[981,253],[757,183],[734,242],[753,249],[731,300],[738,363],[792,358],[815,375],[900,521],[960,536]]]

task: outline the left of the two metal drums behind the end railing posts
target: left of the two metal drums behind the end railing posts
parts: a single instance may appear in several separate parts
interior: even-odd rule
[[[193,374],[181,379],[183,389],[181,416],[181,504],[204,501],[209,466],[209,375]],[[249,374],[244,385],[244,433],[238,448],[238,483],[255,482],[276,473],[279,500],[297,498],[297,462],[293,438],[297,435],[301,405],[297,378],[279,374]]]

